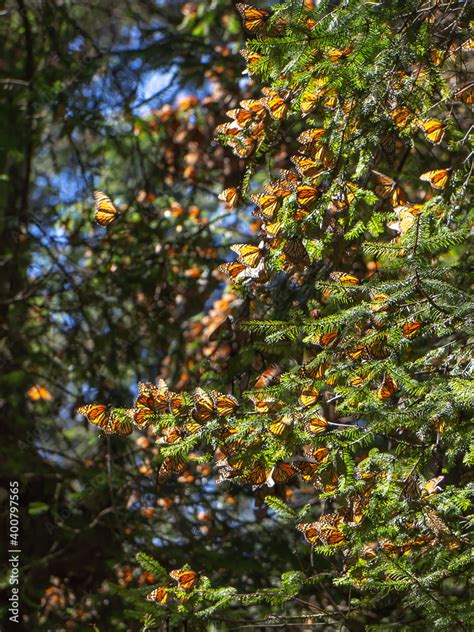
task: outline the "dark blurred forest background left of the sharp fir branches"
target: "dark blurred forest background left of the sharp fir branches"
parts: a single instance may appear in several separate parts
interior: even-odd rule
[[[138,550],[205,556],[224,581],[265,575],[265,538],[284,555],[251,537],[245,497],[182,479],[157,505],[147,439],[97,440],[74,412],[220,370],[208,338],[235,297],[213,270],[248,228],[217,200],[242,163],[214,128],[251,95],[242,29],[225,0],[18,0],[0,33],[1,491],[20,481],[20,627],[127,629],[104,586],[152,581],[124,566]],[[94,188],[124,213],[112,231]]]

